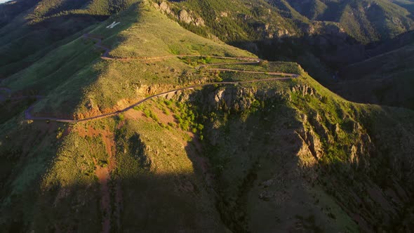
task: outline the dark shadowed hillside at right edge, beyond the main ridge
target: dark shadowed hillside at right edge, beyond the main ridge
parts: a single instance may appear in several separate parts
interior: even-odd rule
[[[356,102],[413,109],[413,46],[406,45],[343,68],[342,81],[335,88]]]

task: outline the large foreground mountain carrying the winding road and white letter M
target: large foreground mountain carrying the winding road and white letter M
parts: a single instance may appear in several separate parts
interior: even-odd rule
[[[413,110],[350,102],[296,62],[262,60],[225,44],[231,36],[251,43],[255,33],[244,22],[260,19],[269,24],[261,32],[285,34],[283,56],[298,58],[293,55],[304,45],[287,41],[288,34],[302,33],[298,19],[313,24],[287,1],[286,8],[238,3],[39,1],[6,22],[0,30],[11,34],[0,39],[11,44],[23,32],[40,40],[39,24],[52,35],[60,15],[67,26],[51,46],[15,54],[33,58],[25,66],[0,63],[1,229],[413,229]],[[106,13],[94,14],[94,4]],[[85,24],[78,21],[81,26],[71,31],[79,15]],[[17,23],[25,31],[10,29]],[[345,32],[335,36],[347,40]],[[373,64],[385,62],[383,69],[394,72],[385,53],[410,54],[403,53],[409,36],[398,38],[396,47],[389,46],[394,39],[352,43],[370,50],[365,55],[373,56]],[[258,51],[283,49],[265,42],[255,41]],[[11,44],[3,51],[20,51]],[[365,71],[370,61],[354,60],[352,70],[371,79],[373,68]],[[397,68],[409,71],[408,64]],[[346,71],[341,79],[353,76]]]

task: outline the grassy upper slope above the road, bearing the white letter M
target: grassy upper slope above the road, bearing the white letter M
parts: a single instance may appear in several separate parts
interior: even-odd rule
[[[113,21],[121,23],[108,29],[107,25]],[[141,4],[138,8],[133,6],[114,15],[97,27],[91,27],[88,33],[102,38],[102,44],[113,48],[109,56],[114,58],[153,58],[165,55],[253,57],[246,51],[188,32],[147,4]],[[39,108],[43,105],[46,108],[44,112],[56,112],[55,116],[70,116],[79,101],[90,101],[86,96],[93,96],[92,105],[97,102],[97,107],[102,112],[103,109],[113,108],[119,100],[136,98],[140,86],[185,84],[188,81],[178,77],[183,72],[194,72],[193,67],[185,65],[178,58],[131,62],[101,60],[99,48],[95,48],[93,42],[95,41],[79,37],[6,79],[2,85],[14,92],[20,90],[46,95],[44,102],[39,103]],[[147,65],[147,62],[151,65]],[[165,74],[170,73],[171,69],[176,69],[173,75]]]

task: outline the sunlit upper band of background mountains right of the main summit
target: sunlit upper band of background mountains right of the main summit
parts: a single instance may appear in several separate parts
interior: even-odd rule
[[[154,1],[199,34],[228,42],[325,34],[333,24],[362,44],[414,29],[410,1]],[[185,12],[185,13],[184,13]]]

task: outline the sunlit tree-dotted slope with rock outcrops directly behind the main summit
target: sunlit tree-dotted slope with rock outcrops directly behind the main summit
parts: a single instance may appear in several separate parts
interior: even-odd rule
[[[154,1],[161,4],[163,1]],[[164,1],[165,4],[165,1]],[[289,14],[272,6],[267,1],[171,1],[168,13],[177,20],[180,11],[192,13],[192,17],[203,19],[204,25],[196,26],[194,22],[182,22],[186,29],[203,36],[217,36],[222,41],[255,41],[268,39],[276,35],[298,35],[300,29],[295,25],[296,17],[302,23],[308,23],[300,14]]]

